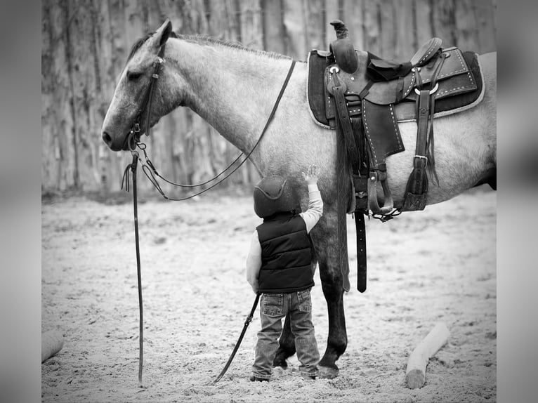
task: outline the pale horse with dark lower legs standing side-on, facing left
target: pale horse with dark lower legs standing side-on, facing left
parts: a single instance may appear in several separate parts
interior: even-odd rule
[[[166,46],[164,46],[166,44]],[[154,72],[154,61],[164,46],[164,67],[155,83],[152,108],[140,116],[140,103]],[[428,190],[427,204],[451,199],[485,182],[497,166],[496,92],[497,54],[479,55],[483,66],[483,101],[471,109],[435,118],[436,171],[439,184]],[[113,151],[129,150],[133,121],[140,117],[143,133],[176,107],[189,107],[245,154],[258,142],[293,60],[285,55],[246,48],[237,43],[198,35],[179,35],[166,20],[157,31],[139,39],[122,71],[103,121],[102,138]],[[339,263],[336,189],[336,134],[313,121],[307,100],[308,67],[296,62],[280,105],[263,139],[249,155],[262,177],[286,176],[301,185],[301,172],[310,164],[318,167],[323,216],[311,231],[315,262],[327,301],[329,333],[320,373],[324,378],[339,374],[336,361],[347,347],[343,309],[346,273]],[[395,204],[401,202],[412,169],[416,122],[399,124],[405,151],[387,157]],[[301,188],[303,209],[308,194]],[[351,187],[346,199],[352,198]],[[345,220],[344,220],[345,222]],[[274,366],[287,367],[295,353],[289,320],[284,321]]]

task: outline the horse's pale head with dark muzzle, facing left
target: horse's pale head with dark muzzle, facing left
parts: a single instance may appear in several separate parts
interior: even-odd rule
[[[172,34],[169,20],[147,37],[140,39],[131,50],[127,64],[122,71],[114,96],[103,121],[102,136],[105,143],[114,151],[129,149],[129,133],[138,117],[140,134],[147,125],[147,105],[145,99],[155,74],[155,63],[159,50]],[[159,78],[153,88],[150,125],[171,111],[170,89],[171,73],[166,71],[166,63],[161,65]],[[174,107],[177,105],[174,105]],[[173,108],[172,108],[173,109]]]

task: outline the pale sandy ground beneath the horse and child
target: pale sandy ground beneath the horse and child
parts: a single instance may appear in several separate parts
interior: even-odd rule
[[[497,194],[483,188],[425,211],[367,222],[368,289],[359,293],[348,216],[348,348],[334,379],[305,381],[296,357],[270,383],[248,381],[258,310],[223,368],[254,293],[244,276],[259,223],[250,194],[139,206],[144,300],[138,385],[138,291],[131,204],[48,198],[42,204],[42,331],[65,336],[41,364],[43,402],[495,402]],[[130,196],[129,196],[130,197]],[[327,309],[319,274],[313,321],[323,354]],[[436,322],[448,343],[423,388],[405,385],[407,358]]]

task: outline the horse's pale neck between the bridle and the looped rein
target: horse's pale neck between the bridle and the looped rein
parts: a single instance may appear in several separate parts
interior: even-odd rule
[[[248,152],[258,140],[291,60],[221,45],[176,39],[167,56],[175,67],[176,97]],[[167,63],[169,60],[166,61]]]

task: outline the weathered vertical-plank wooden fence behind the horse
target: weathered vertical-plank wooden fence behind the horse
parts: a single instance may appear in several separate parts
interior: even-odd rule
[[[41,9],[42,190],[119,190],[131,155],[107,149],[100,128],[127,53],[169,18],[182,34],[209,34],[306,60],[327,49],[339,18],[355,45],[409,60],[433,36],[445,46],[495,51],[496,0],[43,0]],[[196,114],[178,108],[145,138],[163,176],[198,183],[239,151]],[[254,167],[228,183],[251,185]],[[140,180],[147,190],[147,180]]]

